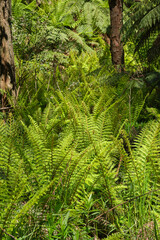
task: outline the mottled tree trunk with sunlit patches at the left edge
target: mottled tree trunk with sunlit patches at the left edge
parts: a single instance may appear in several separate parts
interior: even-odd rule
[[[11,0],[0,0],[0,88],[4,91],[15,90]]]

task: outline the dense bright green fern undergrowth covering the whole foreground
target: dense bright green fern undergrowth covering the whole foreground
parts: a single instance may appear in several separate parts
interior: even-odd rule
[[[159,116],[138,125],[141,90],[93,79],[1,119],[1,239],[159,238]]]

